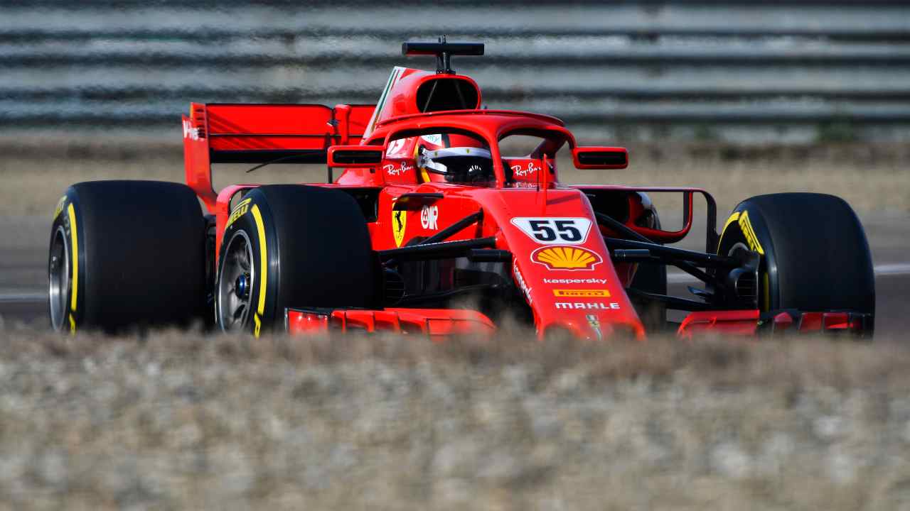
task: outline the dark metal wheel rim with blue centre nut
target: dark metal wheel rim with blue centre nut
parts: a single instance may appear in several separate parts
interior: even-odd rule
[[[227,242],[218,275],[218,325],[225,332],[248,325],[256,270],[252,265],[253,248],[249,236],[238,231]]]

